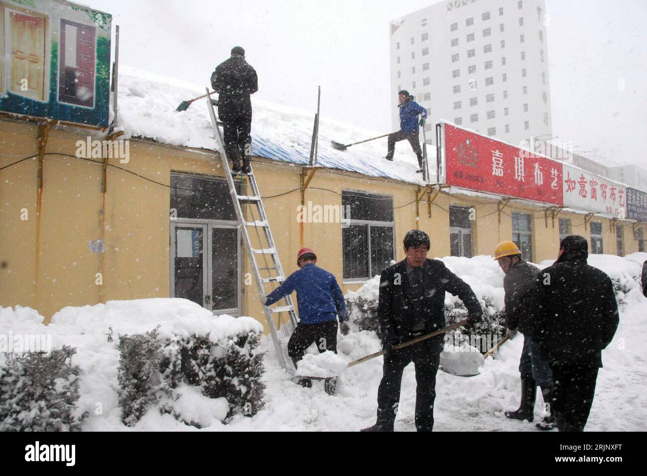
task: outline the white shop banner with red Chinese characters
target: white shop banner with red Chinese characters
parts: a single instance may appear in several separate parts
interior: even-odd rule
[[[563,173],[564,207],[628,218],[624,185],[567,164]]]

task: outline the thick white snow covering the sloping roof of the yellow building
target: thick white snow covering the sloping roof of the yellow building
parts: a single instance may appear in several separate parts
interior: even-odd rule
[[[204,86],[200,86],[120,65],[118,125],[130,137],[147,137],[176,146],[215,150],[206,98],[195,101],[186,111],[175,111],[183,100],[203,95],[207,84],[207,78]],[[254,155],[293,164],[309,163],[314,111],[290,108],[254,96],[252,108]],[[349,144],[382,134],[384,131],[321,119],[318,165],[423,185],[421,174],[415,172],[417,160],[406,141],[396,145],[393,162],[384,159],[386,137],[345,151],[331,146],[333,140]],[[435,161],[435,147],[428,147],[428,155],[430,161]]]

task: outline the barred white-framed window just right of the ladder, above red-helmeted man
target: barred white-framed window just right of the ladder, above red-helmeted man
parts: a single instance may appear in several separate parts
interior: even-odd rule
[[[342,229],[344,279],[371,278],[395,257],[393,198],[342,190],[342,210],[347,206],[352,218]]]

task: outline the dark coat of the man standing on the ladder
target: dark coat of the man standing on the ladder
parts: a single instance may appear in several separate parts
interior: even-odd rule
[[[243,56],[232,55],[220,63],[211,75],[211,85],[218,93],[218,111],[251,111],[250,95],[258,91],[256,70]]]

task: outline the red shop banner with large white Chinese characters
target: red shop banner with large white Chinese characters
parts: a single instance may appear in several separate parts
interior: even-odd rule
[[[446,183],[562,205],[562,163],[443,124]]]

